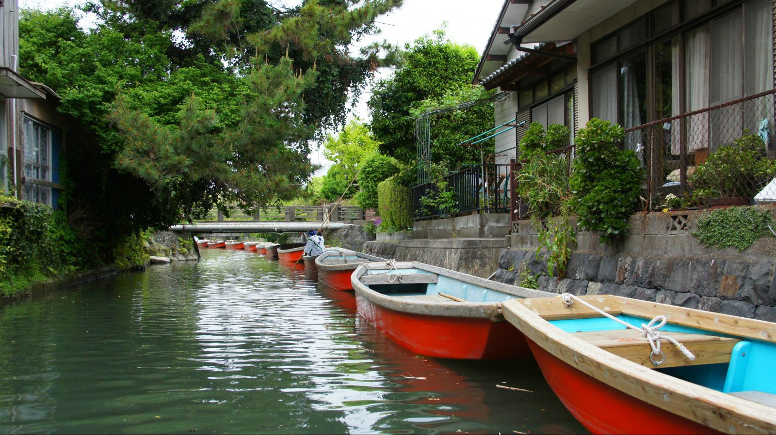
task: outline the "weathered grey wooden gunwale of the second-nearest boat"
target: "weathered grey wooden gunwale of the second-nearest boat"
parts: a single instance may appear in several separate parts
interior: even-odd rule
[[[389,267],[387,267],[386,264],[386,262],[370,264],[369,270],[375,270],[373,269],[375,267],[389,270]],[[485,278],[464,274],[458,271],[451,271],[445,268],[438,268],[436,266],[431,266],[431,264],[419,263],[417,261],[396,262],[394,265],[397,269],[420,269],[421,271],[428,271],[432,274],[438,274],[469,284],[479,285],[480,287],[495,290],[497,292],[507,293],[508,295],[516,296],[518,298],[546,297],[552,295],[551,293],[533,290],[531,288],[522,288],[516,285],[503,284],[497,281],[490,281]],[[475,319],[490,319],[494,322],[502,321],[504,319],[503,316],[501,316],[502,302],[458,302],[452,299],[450,302],[423,301],[400,299],[400,296],[383,295],[361,282],[361,277],[366,271],[367,269],[364,267],[363,263],[359,264],[359,267],[355,269],[350,278],[353,289],[355,290],[356,295],[360,295],[367,301],[383,308],[425,316],[469,317]],[[516,292],[514,288],[517,288],[518,292]]]

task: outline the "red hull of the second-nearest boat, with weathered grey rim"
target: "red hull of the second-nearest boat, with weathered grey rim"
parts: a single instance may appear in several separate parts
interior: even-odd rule
[[[358,292],[355,299],[359,314],[372,326],[416,354],[468,360],[531,357],[523,334],[505,321],[400,312]]]

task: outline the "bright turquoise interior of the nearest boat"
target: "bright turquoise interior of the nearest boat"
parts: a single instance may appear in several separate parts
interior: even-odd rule
[[[618,316],[618,319],[625,320],[625,322],[633,326],[641,326],[642,323],[650,322],[650,319],[627,314]],[[568,333],[626,329],[625,326],[606,317],[551,320],[550,323]],[[695,333],[735,337],[672,323],[667,323],[660,330],[667,333]],[[766,392],[776,394],[774,361],[776,361],[776,344],[743,338],[733,347],[729,363],[698,364],[684,367],[658,368],[656,370],[719,392]]]

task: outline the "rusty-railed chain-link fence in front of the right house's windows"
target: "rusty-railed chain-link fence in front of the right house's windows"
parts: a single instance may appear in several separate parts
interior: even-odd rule
[[[625,130],[646,209],[776,204],[774,91]]]

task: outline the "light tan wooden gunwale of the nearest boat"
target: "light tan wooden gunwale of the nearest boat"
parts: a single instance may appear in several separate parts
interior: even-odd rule
[[[622,313],[632,316],[643,317],[647,309],[654,311],[664,308],[667,312],[677,312],[676,310],[680,309],[689,314],[702,312],[709,316],[718,316],[718,319],[722,316],[731,320],[741,319],[736,316],[669,306],[657,302],[638,301],[622,296],[591,295],[581,297],[587,299],[586,302],[591,302],[601,296],[605,297],[608,302],[618,302],[619,306],[616,308],[621,309]],[[559,296],[555,296],[553,299],[563,304]],[[574,337],[572,333],[567,333],[553,325],[542,317],[538,309],[532,307],[533,302],[531,299],[504,301],[504,318],[518,328],[521,333],[524,333],[526,338],[553,354],[554,357],[559,358],[560,361],[569,364],[572,368],[635,399],[714,430],[725,433],[776,433],[776,413],[770,406],[684,381],[612,354],[608,350],[601,349],[579,337]],[[563,305],[565,306],[565,304]],[[630,309],[632,307],[636,307],[636,310]],[[572,306],[571,309],[574,308],[576,307]],[[580,312],[577,312],[578,316],[570,318],[591,317],[592,310],[584,306],[581,308]],[[669,322],[699,327],[688,325],[687,322],[680,323],[677,320],[680,319],[673,319],[673,321],[669,319]],[[761,320],[745,320],[769,324],[769,322]],[[736,335],[763,340],[740,333]]]

